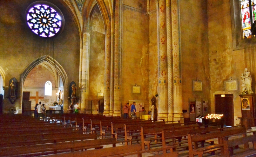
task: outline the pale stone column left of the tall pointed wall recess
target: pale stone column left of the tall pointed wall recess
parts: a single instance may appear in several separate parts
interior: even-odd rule
[[[88,65],[89,65],[89,31],[85,27],[83,33],[82,78],[81,78],[81,109],[87,109],[88,98]]]

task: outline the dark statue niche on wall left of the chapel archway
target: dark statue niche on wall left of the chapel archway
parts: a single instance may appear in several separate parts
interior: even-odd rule
[[[13,104],[18,95],[18,81],[15,77],[9,81],[9,100]]]

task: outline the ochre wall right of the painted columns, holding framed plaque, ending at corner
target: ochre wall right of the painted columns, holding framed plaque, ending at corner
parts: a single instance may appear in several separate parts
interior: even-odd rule
[[[180,1],[181,75],[184,118],[189,118],[189,98],[210,102],[208,23],[206,1]],[[202,91],[193,91],[193,80]],[[208,107],[209,109],[209,107]]]

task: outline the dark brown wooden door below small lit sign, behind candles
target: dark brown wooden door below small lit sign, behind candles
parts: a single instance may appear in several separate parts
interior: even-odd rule
[[[215,113],[224,115],[226,126],[234,126],[233,94],[225,94],[225,97],[221,94],[215,95]]]

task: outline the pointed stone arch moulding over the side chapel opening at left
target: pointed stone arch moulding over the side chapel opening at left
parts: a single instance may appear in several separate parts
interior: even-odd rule
[[[39,57],[38,59],[34,60],[33,62],[31,62],[26,69],[24,70],[24,72],[22,73],[22,80],[21,81],[25,81],[28,73],[37,65],[39,65],[42,62],[48,62],[49,65],[51,65],[52,67],[54,67],[56,69],[56,71],[58,72],[58,74],[60,75],[63,84],[65,84],[67,82],[68,76],[65,72],[65,70],[63,69],[63,67],[60,65],[60,63],[58,63],[55,59],[53,59],[52,57],[50,57],[49,55],[44,55],[42,57]],[[23,85],[23,84],[22,84]]]

